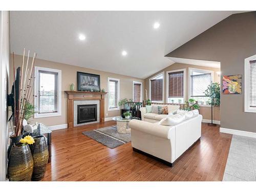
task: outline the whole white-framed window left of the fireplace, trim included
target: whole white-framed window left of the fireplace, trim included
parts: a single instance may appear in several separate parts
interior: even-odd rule
[[[35,118],[61,115],[61,71],[35,67]]]

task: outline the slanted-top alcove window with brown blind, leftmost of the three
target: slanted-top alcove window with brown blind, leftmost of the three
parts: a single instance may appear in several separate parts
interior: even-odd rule
[[[150,79],[150,99],[152,102],[163,102],[164,73]]]

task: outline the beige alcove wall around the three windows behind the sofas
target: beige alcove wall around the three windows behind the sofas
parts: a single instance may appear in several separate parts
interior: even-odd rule
[[[204,70],[210,70],[214,71],[214,82],[220,83],[220,77],[216,73],[217,71],[220,71],[220,69],[217,68],[209,68],[209,67],[203,67],[203,66],[196,66],[196,65],[187,65],[183,63],[174,63],[173,65],[168,66],[167,68],[151,75],[150,77],[147,77],[145,79],[145,89],[147,92],[149,92],[149,79],[151,77],[154,77],[155,75],[164,72],[164,102],[167,102],[166,98],[166,72],[172,71],[172,70],[179,70],[179,69],[186,69],[186,92],[185,92],[185,100],[188,100],[188,68],[196,68],[196,69],[204,69]],[[200,108],[200,114],[203,115],[203,119],[211,119],[211,109],[209,106],[201,106]],[[220,120],[220,107],[215,107],[214,111],[212,113],[214,120]]]

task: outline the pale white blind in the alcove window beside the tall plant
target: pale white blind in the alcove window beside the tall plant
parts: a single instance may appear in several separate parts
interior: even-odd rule
[[[205,73],[200,75],[190,75],[190,96],[191,97],[205,97],[205,90],[211,83],[211,74]]]

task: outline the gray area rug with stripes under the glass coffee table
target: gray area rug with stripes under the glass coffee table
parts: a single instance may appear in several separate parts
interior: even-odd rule
[[[97,130],[82,132],[82,134],[109,148],[115,148],[131,141],[131,133],[118,133],[116,126],[108,126]]]

